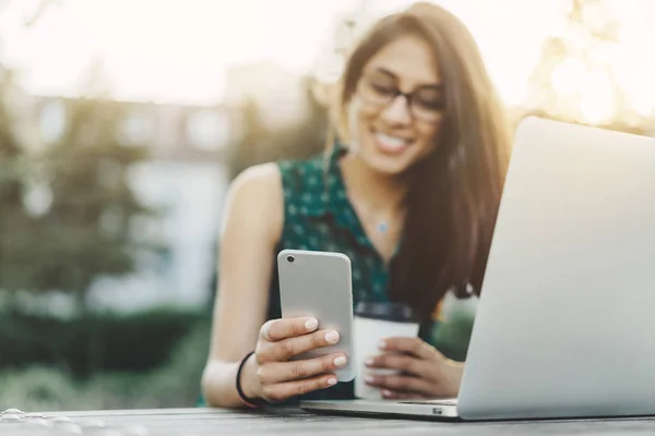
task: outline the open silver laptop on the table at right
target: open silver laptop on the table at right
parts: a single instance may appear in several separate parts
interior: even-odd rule
[[[522,121],[457,399],[305,401],[463,421],[655,414],[655,138]]]

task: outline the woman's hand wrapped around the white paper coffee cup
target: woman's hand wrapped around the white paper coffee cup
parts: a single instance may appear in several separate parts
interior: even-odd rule
[[[388,399],[455,398],[464,364],[451,361],[419,338],[389,338],[380,344],[383,352],[370,358],[370,368],[396,370],[400,374],[367,374],[369,386],[381,389]]]

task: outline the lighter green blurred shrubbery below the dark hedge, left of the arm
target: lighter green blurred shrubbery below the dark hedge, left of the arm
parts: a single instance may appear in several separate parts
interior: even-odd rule
[[[52,367],[0,373],[0,409],[25,411],[194,407],[206,360],[211,323],[194,322],[170,350],[166,363],[150,372],[95,374],[85,380]]]

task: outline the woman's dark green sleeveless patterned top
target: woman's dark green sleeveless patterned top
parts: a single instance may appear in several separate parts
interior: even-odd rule
[[[344,253],[353,268],[353,302],[384,302],[389,271],[369,241],[353,205],[338,165],[346,153],[336,145],[327,156],[277,162],[284,191],[284,228],[276,247]],[[269,318],[281,317],[277,266],[273,268]],[[464,361],[475,317],[477,298],[456,299],[446,293],[434,307],[432,323],[422,326],[421,338],[450,359]],[[349,398],[352,387],[342,384],[318,393],[321,398]],[[311,396],[311,395],[310,395]],[[315,398],[317,393],[312,396]]]

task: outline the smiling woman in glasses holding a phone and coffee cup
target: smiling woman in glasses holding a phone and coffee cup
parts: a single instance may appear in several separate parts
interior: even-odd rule
[[[370,362],[401,375],[367,383],[386,398],[457,395],[464,363],[444,354],[448,330],[434,325],[448,298],[479,292],[509,143],[476,44],[451,13],[416,3],[357,45],[336,108],[341,141],[326,157],[257,166],[230,187],[203,376],[210,405],[353,395],[332,375],[346,356],[289,361],[338,335],[279,319],[283,249],[346,253],[355,303],[420,314],[419,338],[390,338]]]

